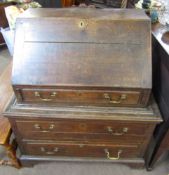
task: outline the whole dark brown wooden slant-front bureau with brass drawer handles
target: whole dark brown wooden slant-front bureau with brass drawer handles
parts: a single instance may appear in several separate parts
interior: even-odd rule
[[[155,102],[148,103],[150,27],[143,11],[129,9],[30,9],[18,18],[16,98],[4,115],[22,165],[90,160],[144,166],[161,122]]]

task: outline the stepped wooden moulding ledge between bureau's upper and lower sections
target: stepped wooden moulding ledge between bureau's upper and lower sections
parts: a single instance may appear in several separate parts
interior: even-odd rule
[[[153,100],[147,108],[119,108],[119,107],[69,107],[48,104],[21,104],[13,98],[7,106],[4,116],[8,118],[26,117],[32,120],[54,119],[81,119],[100,121],[122,121],[122,122],[150,122],[160,123],[162,119]]]

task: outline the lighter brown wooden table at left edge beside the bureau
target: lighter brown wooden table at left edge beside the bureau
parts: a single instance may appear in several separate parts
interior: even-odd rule
[[[16,158],[16,143],[15,140],[11,140],[11,125],[7,118],[2,116],[3,109],[6,103],[11,98],[13,91],[10,84],[11,81],[11,67],[9,64],[3,74],[0,76],[0,145],[4,146],[9,160],[0,160],[2,165],[12,165],[19,168],[19,162]]]

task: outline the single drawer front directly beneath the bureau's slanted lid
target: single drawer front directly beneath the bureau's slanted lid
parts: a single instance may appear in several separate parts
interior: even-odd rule
[[[90,106],[137,106],[141,93],[137,91],[85,91],[22,89],[22,101]]]

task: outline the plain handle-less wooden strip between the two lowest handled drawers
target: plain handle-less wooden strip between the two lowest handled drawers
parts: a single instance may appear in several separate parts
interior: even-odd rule
[[[143,136],[126,136],[126,135],[111,135],[111,134],[72,134],[72,133],[56,133],[56,132],[24,132],[19,133],[24,140],[59,140],[59,141],[89,141],[98,143],[135,143],[143,144],[146,140]]]

